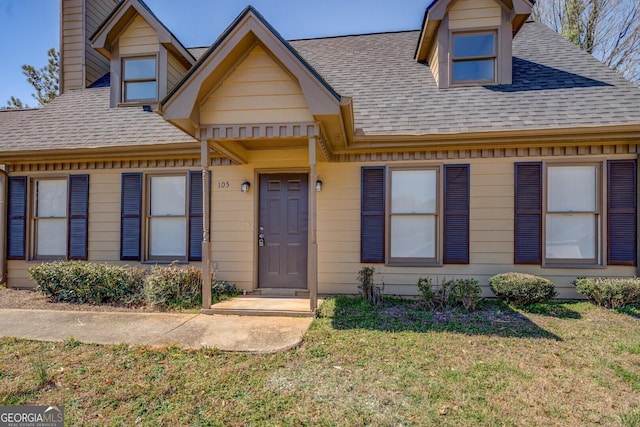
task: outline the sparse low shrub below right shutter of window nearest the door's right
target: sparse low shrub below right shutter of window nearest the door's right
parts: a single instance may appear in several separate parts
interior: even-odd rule
[[[480,282],[476,279],[444,279],[434,289],[430,277],[421,277],[418,279],[418,289],[427,305],[437,309],[464,307],[473,311],[482,299]]]

